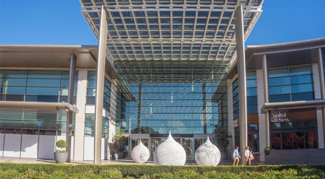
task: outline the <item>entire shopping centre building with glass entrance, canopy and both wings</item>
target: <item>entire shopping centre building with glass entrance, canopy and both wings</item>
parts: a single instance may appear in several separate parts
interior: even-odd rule
[[[216,129],[230,158],[323,157],[325,38],[245,48],[259,0],[80,4],[98,46],[0,46],[0,157],[52,159],[65,139],[71,160],[99,163],[116,129],[129,157],[171,131],[194,160]]]

